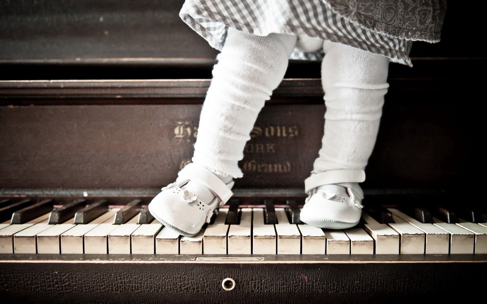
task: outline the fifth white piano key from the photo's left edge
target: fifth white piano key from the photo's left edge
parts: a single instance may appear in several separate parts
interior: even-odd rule
[[[84,237],[85,253],[107,254],[108,234],[120,225],[113,225],[113,217],[108,218],[89,232]]]

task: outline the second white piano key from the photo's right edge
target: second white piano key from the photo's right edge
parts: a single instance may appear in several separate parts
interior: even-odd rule
[[[433,224],[450,233],[450,254],[473,253],[475,234],[455,224],[445,223],[433,217]]]

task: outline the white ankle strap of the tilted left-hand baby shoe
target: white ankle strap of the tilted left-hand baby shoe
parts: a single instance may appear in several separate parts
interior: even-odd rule
[[[181,171],[179,171],[178,176],[182,179],[197,179],[201,181],[216,197],[220,198],[222,205],[233,195],[233,192],[221,179],[219,179],[213,172],[197,163],[188,163],[181,169]]]

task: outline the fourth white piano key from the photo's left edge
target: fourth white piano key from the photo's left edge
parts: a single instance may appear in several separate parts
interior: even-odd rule
[[[61,234],[61,253],[84,253],[84,236],[101,223],[113,219],[119,209],[111,210],[100,215],[88,224],[76,225]],[[106,246],[105,246],[106,247]]]

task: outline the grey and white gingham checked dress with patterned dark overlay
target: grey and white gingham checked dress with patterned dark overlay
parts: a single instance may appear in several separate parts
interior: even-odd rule
[[[186,0],[179,16],[217,50],[232,27],[340,42],[412,67],[412,41],[438,42],[446,8],[446,0]],[[290,59],[322,57],[295,48]]]

